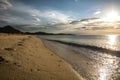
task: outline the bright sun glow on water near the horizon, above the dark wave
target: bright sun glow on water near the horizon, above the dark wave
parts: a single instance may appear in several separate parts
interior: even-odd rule
[[[108,45],[109,45],[108,47],[110,49],[115,49],[116,40],[117,40],[117,35],[108,36]]]

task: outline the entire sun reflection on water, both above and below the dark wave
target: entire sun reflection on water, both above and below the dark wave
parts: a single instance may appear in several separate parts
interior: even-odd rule
[[[111,50],[115,50],[115,45],[117,44],[117,35],[108,36],[108,47]],[[102,65],[99,67],[99,80],[114,80],[112,75],[115,74],[118,68],[117,57],[111,55],[103,55],[101,58]]]

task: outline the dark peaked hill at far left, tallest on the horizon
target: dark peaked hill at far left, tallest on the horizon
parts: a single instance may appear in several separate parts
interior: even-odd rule
[[[21,31],[13,28],[10,25],[0,27],[0,33],[22,33]]]

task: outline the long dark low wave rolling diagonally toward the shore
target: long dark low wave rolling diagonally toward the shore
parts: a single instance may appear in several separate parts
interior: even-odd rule
[[[85,45],[85,44],[77,44],[77,43],[72,43],[72,42],[65,42],[65,41],[60,41],[60,40],[49,40],[48,41],[53,41],[53,42],[58,42],[61,44],[66,44],[69,46],[74,46],[74,47],[82,47],[82,48],[86,48],[86,49],[91,49],[93,51],[99,51],[102,53],[107,53],[113,56],[117,56],[120,57],[120,51],[116,51],[116,50],[111,50],[111,49],[107,49],[107,48],[103,48],[103,47],[98,47],[98,46],[93,46],[93,45]]]

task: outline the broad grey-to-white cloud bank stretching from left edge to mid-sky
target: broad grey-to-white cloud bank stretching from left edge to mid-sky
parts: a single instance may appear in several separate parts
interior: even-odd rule
[[[6,1],[8,0],[1,0],[1,2]],[[70,20],[70,16],[58,10],[38,10],[18,2],[13,2],[12,4],[14,4],[12,8],[7,9],[6,7],[5,9],[7,10],[0,10],[0,22],[6,21],[8,24],[29,24],[34,26],[68,22]]]

